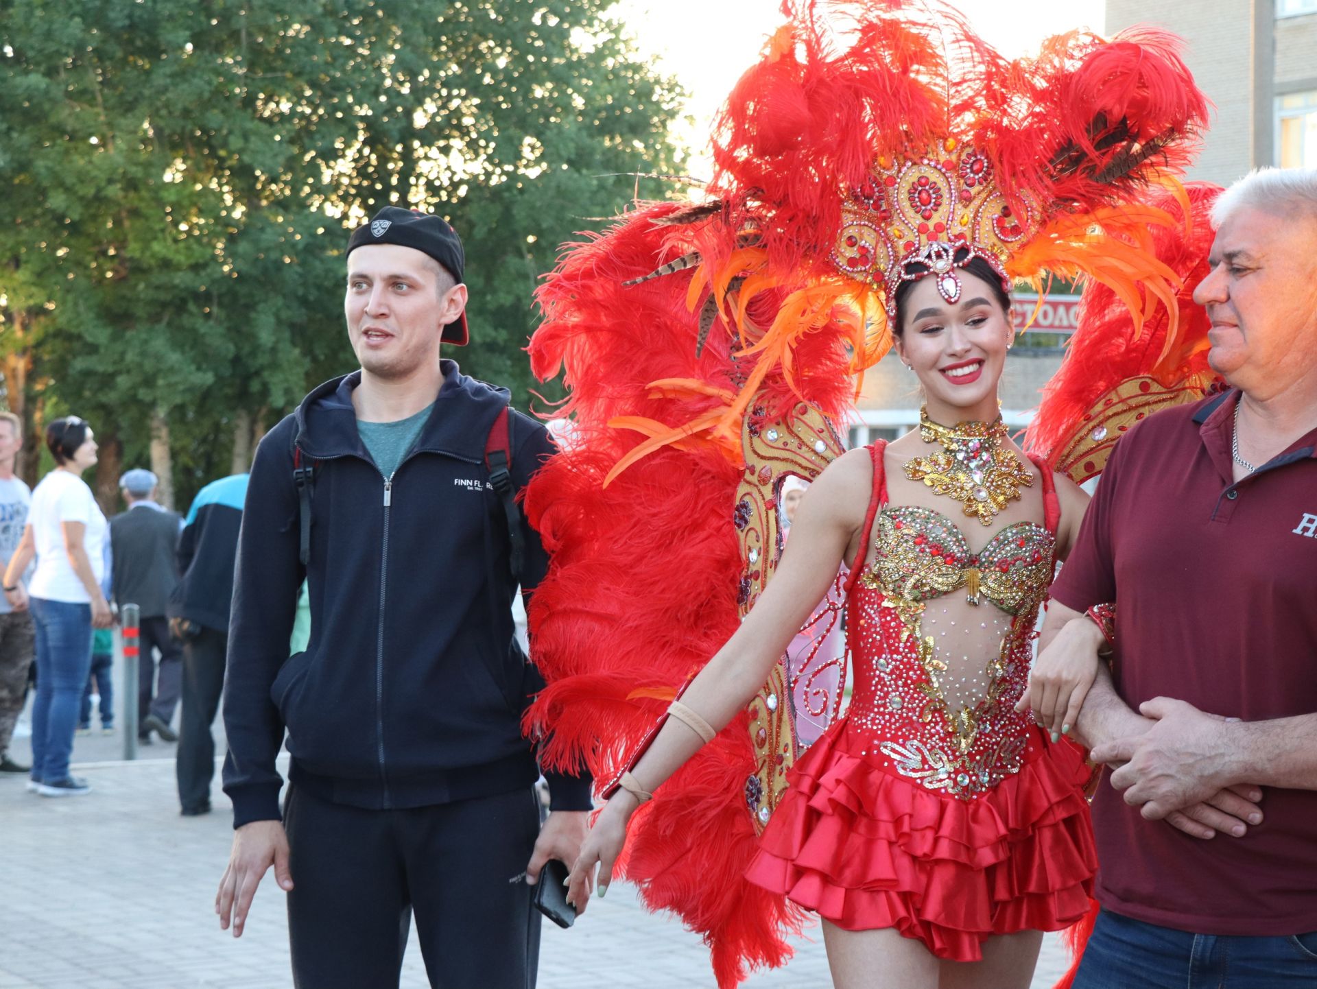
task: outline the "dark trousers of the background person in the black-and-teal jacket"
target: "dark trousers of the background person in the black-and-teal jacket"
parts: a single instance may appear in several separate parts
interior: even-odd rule
[[[195,810],[211,802],[211,778],[215,776],[215,736],[211,724],[224,693],[224,653],[229,636],[202,627],[196,637],[183,645],[183,719],[178,730],[178,799],[183,810]]]

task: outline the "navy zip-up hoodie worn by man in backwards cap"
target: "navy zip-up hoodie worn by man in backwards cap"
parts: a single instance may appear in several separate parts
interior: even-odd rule
[[[508,392],[443,361],[444,383],[391,478],[357,432],[356,371],[312,391],[257,448],[229,624],[224,791],[233,826],[279,816],[274,760],[288,732],[290,778],[325,799],[420,807],[529,786],[522,736],[544,686],[514,636],[507,521],[485,444]],[[512,483],[553,452],[545,429],[508,416]],[[316,462],[311,560],[298,561],[292,444]],[[523,590],[547,569],[523,520]],[[288,656],[306,575],[311,640]],[[587,810],[587,777],[549,774],[556,810]]]

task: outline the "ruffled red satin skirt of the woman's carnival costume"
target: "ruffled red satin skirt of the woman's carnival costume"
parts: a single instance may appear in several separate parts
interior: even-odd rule
[[[792,769],[747,878],[838,927],[894,927],[979,961],[994,934],[1058,931],[1089,907],[1097,853],[1068,743],[971,801],[897,776],[835,724]],[[869,743],[872,744],[872,743]]]

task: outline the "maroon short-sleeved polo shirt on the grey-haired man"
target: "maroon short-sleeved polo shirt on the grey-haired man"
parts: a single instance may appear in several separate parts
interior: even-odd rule
[[[1115,689],[1264,720],[1317,712],[1317,428],[1233,481],[1237,391],[1139,423],[1112,452],[1056,601],[1114,601]],[[1317,930],[1317,791],[1264,788],[1245,838],[1144,820],[1105,782],[1093,801],[1097,898],[1196,934]]]

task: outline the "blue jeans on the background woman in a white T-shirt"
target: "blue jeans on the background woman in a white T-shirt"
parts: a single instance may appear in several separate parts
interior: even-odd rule
[[[68,777],[78,708],[91,669],[91,604],[32,598],[37,697],[32,705],[32,778]]]

